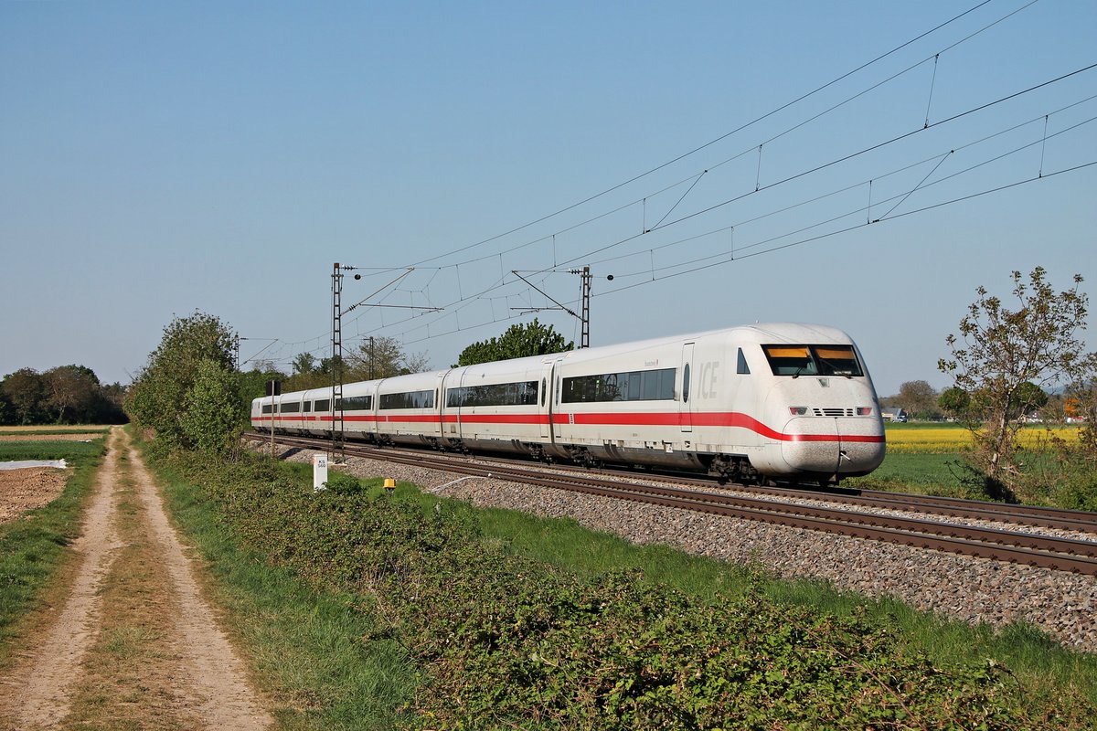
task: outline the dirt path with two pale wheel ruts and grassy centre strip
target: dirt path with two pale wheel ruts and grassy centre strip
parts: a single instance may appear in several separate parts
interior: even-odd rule
[[[0,729],[265,729],[128,435],[113,430],[56,618],[0,676]]]

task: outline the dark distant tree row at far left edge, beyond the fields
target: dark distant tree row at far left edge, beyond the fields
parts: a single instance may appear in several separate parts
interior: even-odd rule
[[[122,424],[124,395],[122,384],[101,384],[87,366],[20,368],[0,380],[0,424]]]

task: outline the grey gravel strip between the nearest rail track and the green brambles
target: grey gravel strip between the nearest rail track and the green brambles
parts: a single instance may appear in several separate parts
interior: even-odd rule
[[[290,459],[312,461],[303,450]],[[1097,652],[1097,578],[1003,563],[757,521],[644,505],[581,493],[470,478],[350,457],[358,477],[391,477],[484,507],[520,510],[666,544],[690,553],[765,567],[785,579],[822,580],[840,591],[893,596],[969,624],[1025,620],[1064,646]]]

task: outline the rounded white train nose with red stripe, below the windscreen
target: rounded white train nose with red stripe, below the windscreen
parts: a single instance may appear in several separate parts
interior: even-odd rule
[[[871,472],[884,458],[884,437],[866,419],[791,419],[781,456],[790,467],[819,475],[853,477]]]

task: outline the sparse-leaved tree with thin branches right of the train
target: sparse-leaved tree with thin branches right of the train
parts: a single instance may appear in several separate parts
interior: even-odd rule
[[[969,420],[974,436],[974,466],[985,476],[988,491],[1017,496],[1020,469],[1015,439],[1021,426],[1018,407],[1032,396],[1031,385],[1073,382],[1083,377],[1094,354],[1083,352],[1078,332],[1086,327],[1088,297],[1074,286],[1055,293],[1043,267],[1036,267],[1028,282],[1020,272],[1011,275],[1016,309],[984,287],[960,321],[960,336],[946,342],[951,358],[941,358],[938,368],[954,378],[969,393],[980,392],[982,422]],[[971,412],[969,412],[971,413]]]

